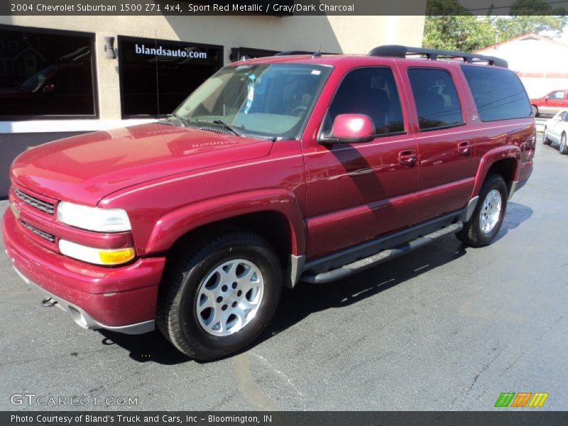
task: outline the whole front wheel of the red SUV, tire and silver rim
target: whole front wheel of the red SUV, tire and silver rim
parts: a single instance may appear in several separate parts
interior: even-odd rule
[[[191,241],[168,261],[158,327],[184,354],[209,361],[251,344],[271,320],[282,268],[270,244],[249,231]]]

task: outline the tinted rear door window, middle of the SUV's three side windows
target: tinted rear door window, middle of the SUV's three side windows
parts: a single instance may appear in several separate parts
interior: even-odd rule
[[[449,72],[435,68],[410,68],[408,79],[413,88],[421,131],[464,123],[456,86]]]

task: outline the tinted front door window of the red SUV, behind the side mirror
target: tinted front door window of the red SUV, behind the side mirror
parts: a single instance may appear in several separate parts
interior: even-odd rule
[[[332,130],[339,114],[368,115],[378,136],[403,132],[403,111],[391,69],[365,67],[349,72],[329,105],[324,132]]]

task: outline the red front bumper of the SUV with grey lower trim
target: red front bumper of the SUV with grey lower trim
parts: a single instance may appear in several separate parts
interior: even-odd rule
[[[165,258],[140,258],[119,268],[76,261],[35,243],[10,209],[2,231],[23,280],[57,300],[81,327],[129,334],[153,329]]]

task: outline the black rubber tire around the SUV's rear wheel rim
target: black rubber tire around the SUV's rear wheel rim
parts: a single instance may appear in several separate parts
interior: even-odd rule
[[[481,229],[480,213],[481,209],[484,208],[484,202],[487,195],[492,190],[497,190],[501,195],[501,212],[499,212],[498,222],[493,226],[493,228],[488,232],[484,232]],[[457,239],[466,244],[466,246],[471,247],[483,247],[491,244],[503,224],[503,218],[505,217],[507,209],[507,197],[507,185],[501,175],[488,175],[481,187],[481,191],[479,192],[479,201],[475,207],[474,214],[471,216],[471,219],[469,219],[469,222],[464,224],[464,228],[456,234]]]

